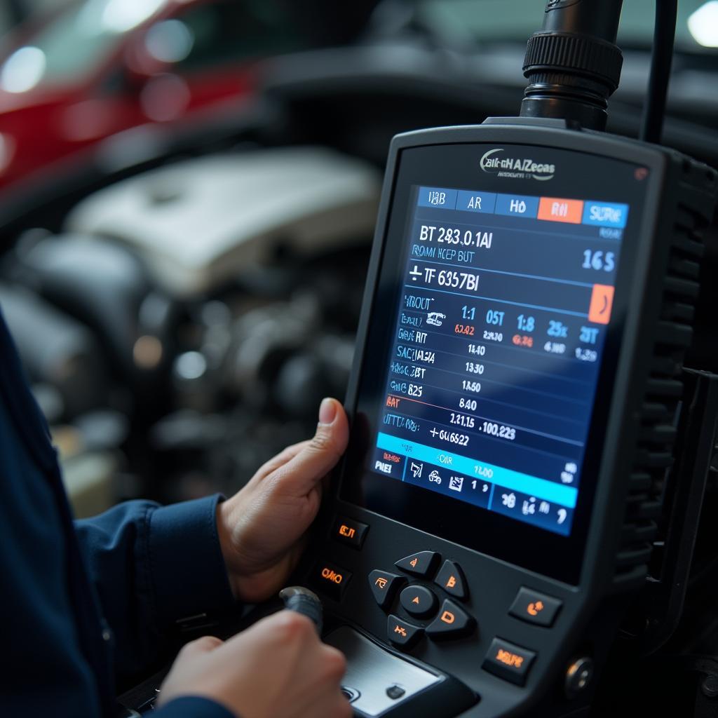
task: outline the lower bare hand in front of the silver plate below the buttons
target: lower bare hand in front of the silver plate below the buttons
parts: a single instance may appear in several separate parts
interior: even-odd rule
[[[241,718],[350,718],[339,685],[346,659],[293,611],[264,618],[223,643],[205,636],[182,648],[158,705],[205,696]]]

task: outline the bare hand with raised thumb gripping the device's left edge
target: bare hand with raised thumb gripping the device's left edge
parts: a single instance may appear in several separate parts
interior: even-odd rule
[[[326,398],[314,438],[284,449],[218,506],[220,545],[238,599],[257,603],[284,586],[317,515],[322,479],[339,461],[348,435],[342,405]]]

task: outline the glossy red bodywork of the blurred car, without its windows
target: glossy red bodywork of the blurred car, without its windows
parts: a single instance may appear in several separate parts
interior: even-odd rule
[[[19,180],[32,181],[35,173],[67,164],[73,154],[80,156],[122,131],[145,123],[175,123],[250,95],[252,69],[247,62],[182,74],[159,63],[148,72],[132,69],[149,26],[211,1],[168,0],[151,19],[121,37],[105,62],[75,83],[39,85],[25,93],[0,89],[0,190]],[[24,44],[19,35],[0,61]],[[114,86],[111,78],[116,78]]]

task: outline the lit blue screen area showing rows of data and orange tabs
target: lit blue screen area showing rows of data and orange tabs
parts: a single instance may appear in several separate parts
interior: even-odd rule
[[[568,535],[628,205],[415,193],[370,468]]]

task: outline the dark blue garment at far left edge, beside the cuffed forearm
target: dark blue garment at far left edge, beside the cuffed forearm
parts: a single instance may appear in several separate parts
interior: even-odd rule
[[[57,501],[1,400],[0,715],[100,716],[103,696],[74,620],[73,555]]]

